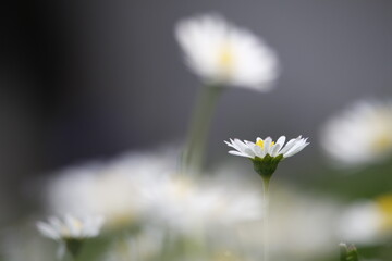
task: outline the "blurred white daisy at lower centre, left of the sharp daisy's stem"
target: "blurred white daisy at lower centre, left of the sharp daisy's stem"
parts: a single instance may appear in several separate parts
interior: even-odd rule
[[[149,190],[155,222],[180,234],[233,225],[260,217],[257,191],[228,191],[223,186],[183,176],[160,179]]]

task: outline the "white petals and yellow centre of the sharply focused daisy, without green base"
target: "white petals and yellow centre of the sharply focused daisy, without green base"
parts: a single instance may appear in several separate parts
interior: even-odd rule
[[[224,142],[229,147],[235,149],[230,150],[230,154],[250,159],[262,159],[267,154],[271,157],[278,157],[282,154],[283,158],[289,158],[302,151],[309,144],[306,141],[307,138],[302,138],[302,136],[289,140],[286,145],[284,145],[285,139],[285,136],[281,136],[277,142],[272,141],[270,137],[267,137],[266,139],[257,138],[256,144],[247,140],[241,141],[240,139],[230,139],[230,142]]]

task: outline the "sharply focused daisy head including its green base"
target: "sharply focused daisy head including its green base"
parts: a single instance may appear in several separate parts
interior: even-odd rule
[[[302,138],[302,136],[284,144],[285,139],[285,136],[281,136],[277,142],[272,141],[270,137],[266,139],[257,138],[256,142],[248,140],[241,141],[240,139],[230,139],[230,142],[224,142],[235,149],[230,150],[230,154],[252,159],[255,171],[261,176],[269,178],[282,159],[298,153],[309,144],[307,138]]]

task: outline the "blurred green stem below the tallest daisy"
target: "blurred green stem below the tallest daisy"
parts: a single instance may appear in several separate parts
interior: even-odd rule
[[[199,94],[182,156],[182,172],[194,174],[201,170],[212,115],[222,90],[222,87],[205,86]]]

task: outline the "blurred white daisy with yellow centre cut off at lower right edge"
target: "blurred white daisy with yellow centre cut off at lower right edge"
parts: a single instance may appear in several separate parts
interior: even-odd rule
[[[343,212],[338,232],[343,240],[373,245],[392,235],[392,195],[359,201]]]

